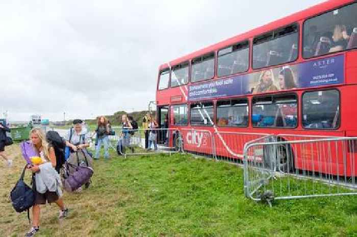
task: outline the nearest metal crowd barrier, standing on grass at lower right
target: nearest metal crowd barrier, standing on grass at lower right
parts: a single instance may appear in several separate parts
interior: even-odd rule
[[[266,142],[244,147],[244,192],[256,201],[357,195],[357,138]],[[273,136],[270,136],[273,141]]]

